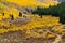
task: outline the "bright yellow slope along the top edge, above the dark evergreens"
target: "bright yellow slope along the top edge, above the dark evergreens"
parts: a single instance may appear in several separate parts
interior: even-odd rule
[[[40,2],[39,0],[8,0],[9,2],[14,2],[20,4],[21,6],[49,6],[49,5],[54,5],[57,4],[57,1],[53,0],[43,0]]]

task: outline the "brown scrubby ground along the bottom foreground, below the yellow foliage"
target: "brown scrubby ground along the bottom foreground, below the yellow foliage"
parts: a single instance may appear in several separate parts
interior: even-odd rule
[[[26,39],[23,31],[8,32],[4,34],[0,34],[0,43],[53,43],[54,40],[52,39],[46,40],[42,38],[39,38],[39,39],[27,38]],[[60,41],[60,43],[65,43],[65,39]]]

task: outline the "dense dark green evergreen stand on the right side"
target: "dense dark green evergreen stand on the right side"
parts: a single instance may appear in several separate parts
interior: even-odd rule
[[[57,16],[60,17],[60,23],[65,24],[65,2],[49,8],[37,8],[32,14],[39,14],[41,17],[42,15]]]

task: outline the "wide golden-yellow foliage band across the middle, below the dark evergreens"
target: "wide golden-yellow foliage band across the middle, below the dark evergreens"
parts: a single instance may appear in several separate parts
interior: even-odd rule
[[[26,15],[23,15],[26,16]],[[60,24],[60,18],[51,15],[43,15],[42,18],[38,15],[27,15],[31,20],[27,24],[15,26],[9,22],[0,22],[0,33],[9,31],[24,31],[26,38],[55,38],[55,34],[63,34],[64,29]],[[2,24],[1,24],[2,23]],[[53,32],[52,32],[53,31]]]

